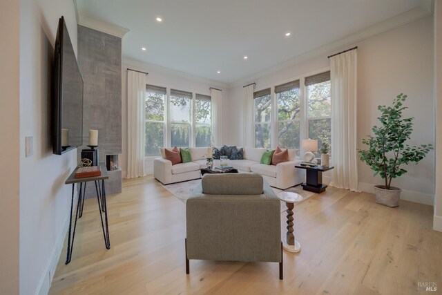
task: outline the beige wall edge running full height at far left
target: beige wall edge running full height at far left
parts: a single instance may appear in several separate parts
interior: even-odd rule
[[[1,1],[0,39],[0,294],[19,294],[19,1]]]

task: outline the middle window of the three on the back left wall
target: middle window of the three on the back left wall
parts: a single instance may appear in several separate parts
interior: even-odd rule
[[[192,93],[171,89],[171,144],[190,146]]]

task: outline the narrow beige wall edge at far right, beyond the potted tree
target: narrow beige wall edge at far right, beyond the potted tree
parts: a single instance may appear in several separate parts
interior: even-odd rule
[[[434,1],[434,102],[436,113],[436,191],[433,229],[442,231],[442,3]]]

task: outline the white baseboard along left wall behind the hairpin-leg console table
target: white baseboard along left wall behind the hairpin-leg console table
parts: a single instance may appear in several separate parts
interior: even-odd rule
[[[75,191],[74,198],[74,206],[77,204],[78,195],[77,191]],[[70,202],[69,202],[70,203]],[[75,213],[74,207],[74,213]],[[70,208],[69,208],[70,212]],[[55,242],[55,247],[52,249],[52,253],[50,254],[50,258],[46,265],[46,268],[41,275],[39,286],[35,292],[36,295],[47,295],[49,293],[50,285],[52,284],[52,278],[54,278],[55,269],[57,269],[58,261],[61,256],[61,251],[64,246],[64,239],[66,238],[66,234],[68,233],[69,227],[69,213],[66,216],[66,220],[64,220],[63,230],[57,238],[57,242]]]

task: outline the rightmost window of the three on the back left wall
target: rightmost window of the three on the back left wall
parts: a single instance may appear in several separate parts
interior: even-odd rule
[[[195,146],[211,144],[211,97],[195,95]]]

